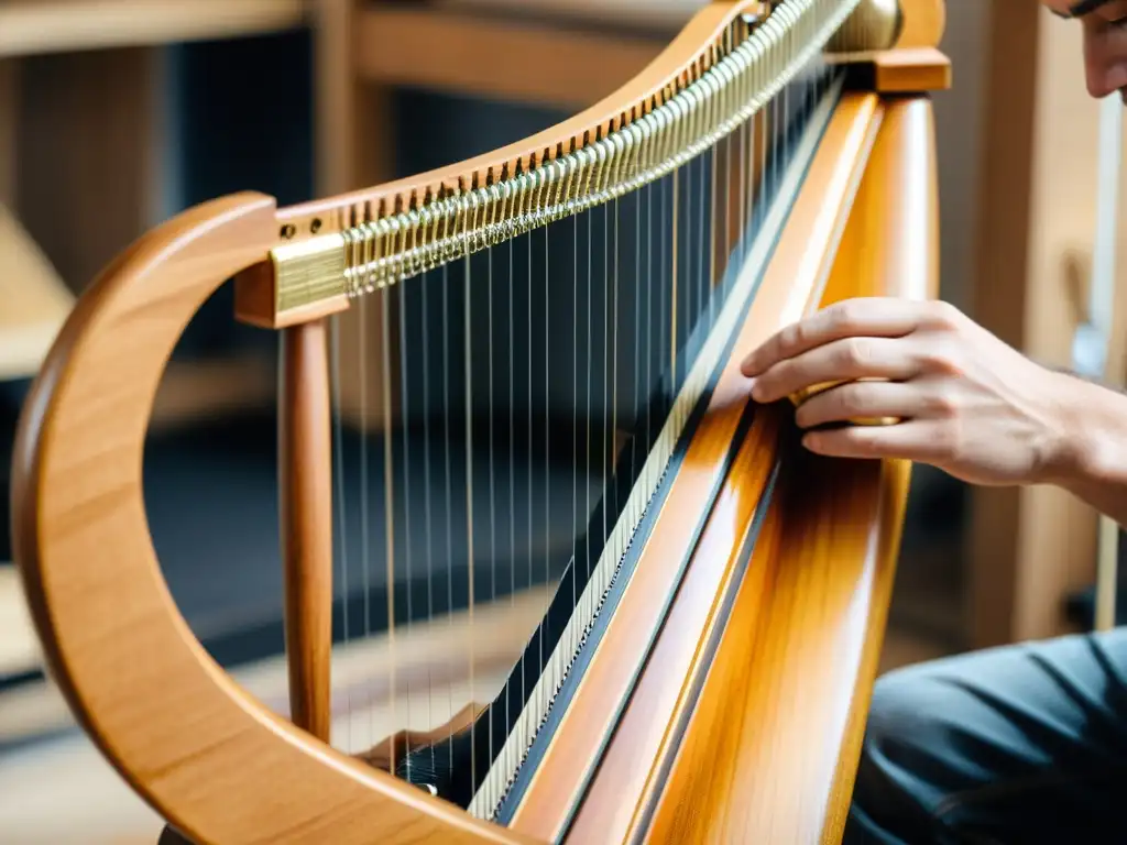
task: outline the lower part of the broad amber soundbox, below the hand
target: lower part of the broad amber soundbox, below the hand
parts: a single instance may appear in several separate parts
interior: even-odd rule
[[[879,651],[906,489],[906,465],[792,444],[647,842],[835,842],[843,735]]]

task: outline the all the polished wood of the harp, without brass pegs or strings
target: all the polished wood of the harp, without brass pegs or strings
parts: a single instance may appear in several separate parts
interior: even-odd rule
[[[142,490],[166,363],[225,281],[240,277],[239,313],[255,321],[257,305],[277,294],[269,261],[281,242],[409,206],[452,178],[473,185],[517,161],[582,148],[701,72],[749,8],[707,6],[602,103],[454,168],[286,210],[254,193],[189,210],[140,238],[80,297],[21,419],[15,557],[53,678],[101,753],[171,828],[199,845],[840,839],[908,468],[802,452],[792,409],[752,403],[738,364],[748,347],[835,299],[934,295],[934,127],[920,90],[827,97],[799,133],[761,221],[775,226],[772,237],[753,243],[749,255],[762,257],[735,274],[748,283],[738,290],[749,304],[721,306],[735,343],[728,328],[713,328],[708,348],[719,352],[701,368],[703,417],[684,429],[678,462],[647,513],[651,524],[627,537],[638,539],[638,566],[604,616],[508,828],[373,767],[393,768],[407,740],[467,724],[481,706],[476,699],[463,699],[461,712],[451,704],[447,726],[392,732],[362,759],[327,744],[332,462],[323,309],[299,309],[284,327],[259,321],[282,331],[281,546],[295,724],[222,670],[188,629],[161,575]],[[924,87],[924,75],[915,79]],[[715,254],[704,263],[713,273],[716,264]],[[393,465],[384,468],[391,478]],[[390,541],[388,550],[393,562]],[[471,625],[472,613],[471,605]],[[512,619],[524,616],[514,610]],[[476,650],[505,653],[494,634],[470,631],[460,648],[471,661]]]

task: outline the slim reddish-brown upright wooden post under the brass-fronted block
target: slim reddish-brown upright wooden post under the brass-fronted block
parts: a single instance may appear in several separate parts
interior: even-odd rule
[[[329,741],[332,435],[323,320],[282,332],[278,466],[290,717]]]

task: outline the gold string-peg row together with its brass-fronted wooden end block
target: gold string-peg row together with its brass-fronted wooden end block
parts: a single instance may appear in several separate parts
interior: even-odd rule
[[[746,11],[684,78],[609,123],[554,149],[405,188],[365,205],[364,222],[274,247],[243,296],[237,286],[239,319],[282,328],[340,311],[356,296],[624,196],[743,126],[843,27],[857,33],[851,45],[871,50],[882,46],[877,23],[899,26],[895,0],[789,0]]]

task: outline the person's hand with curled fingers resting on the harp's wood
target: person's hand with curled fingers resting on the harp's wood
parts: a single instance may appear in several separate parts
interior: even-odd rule
[[[807,432],[811,452],[903,457],[978,484],[1054,480],[1084,384],[1035,364],[947,303],[897,299],[831,305],[779,331],[740,368],[764,403],[846,382],[799,406],[804,429],[902,420]]]

